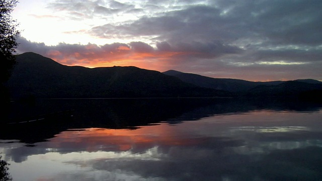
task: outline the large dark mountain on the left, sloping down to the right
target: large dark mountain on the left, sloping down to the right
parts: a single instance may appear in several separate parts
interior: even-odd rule
[[[228,92],[199,87],[134,66],[66,66],[39,54],[17,55],[8,88],[12,98],[217,97]]]

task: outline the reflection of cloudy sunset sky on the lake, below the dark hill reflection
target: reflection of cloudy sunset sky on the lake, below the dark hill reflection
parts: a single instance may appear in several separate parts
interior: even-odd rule
[[[140,122],[136,129],[77,124],[47,141],[3,140],[0,152],[11,163],[14,180],[322,179],[320,108],[226,106],[207,103],[158,119],[160,114],[148,113],[157,124]],[[133,124],[115,115],[124,125]]]

